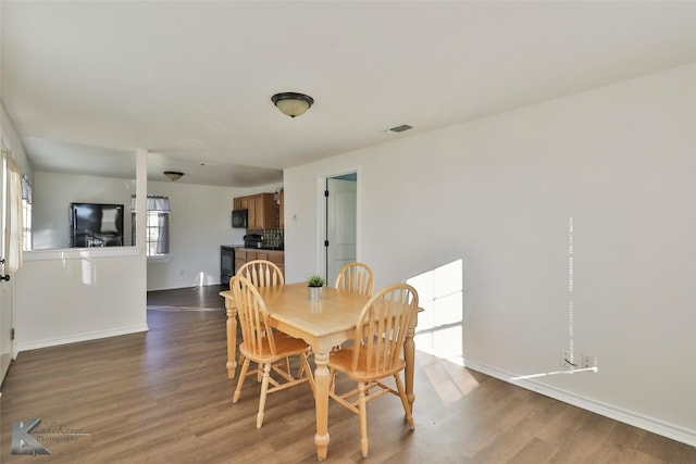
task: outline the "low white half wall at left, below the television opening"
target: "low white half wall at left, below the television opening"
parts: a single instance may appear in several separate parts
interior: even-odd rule
[[[148,329],[134,247],[30,251],[14,280],[15,352]]]

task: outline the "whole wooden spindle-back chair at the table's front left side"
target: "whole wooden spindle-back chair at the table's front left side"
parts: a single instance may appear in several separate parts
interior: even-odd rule
[[[233,292],[237,315],[241,326],[243,341],[239,343],[239,352],[244,355],[244,364],[237,380],[233,403],[237,403],[241,394],[241,387],[248,375],[254,375],[262,371],[261,397],[259,399],[259,413],[257,414],[257,428],[263,425],[265,399],[269,393],[284,390],[306,381],[310,383],[312,392],[314,384],[311,371],[307,361],[307,353],[310,347],[301,339],[290,337],[282,331],[275,331],[270,324],[270,315],[265,308],[259,290],[247,277],[241,275],[229,279],[229,288]],[[290,356],[298,356],[300,360],[300,374],[294,377],[288,364],[278,363]],[[258,369],[249,371],[249,364],[253,361],[258,363]]]

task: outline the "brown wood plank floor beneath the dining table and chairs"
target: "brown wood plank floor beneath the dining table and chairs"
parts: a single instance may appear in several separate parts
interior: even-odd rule
[[[252,377],[237,404],[225,369],[217,287],[148,294],[144,334],[20,353],[2,386],[2,463],[313,463],[307,384],[269,396],[256,428]],[[696,449],[480,373],[417,354],[415,430],[399,400],[370,403],[370,456],[358,417],[330,404],[328,462],[696,463]],[[51,455],[12,454],[13,424]]]

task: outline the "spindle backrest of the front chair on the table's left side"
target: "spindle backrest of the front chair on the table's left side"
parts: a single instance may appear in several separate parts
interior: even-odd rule
[[[275,341],[269,321],[265,303],[251,281],[243,276],[234,276],[229,280],[237,316],[241,328],[241,338],[247,349],[256,354],[263,351],[265,344],[275,354]]]

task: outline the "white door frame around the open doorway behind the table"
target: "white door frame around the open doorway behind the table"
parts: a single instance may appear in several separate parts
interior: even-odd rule
[[[327,285],[331,285],[333,280],[330,281],[328,276],[326,275],[327,268],[327,256],[326,256],[326,247],[324,246],[326,237],[326,198],[324,197],[324,191],[326,191],[326,180],[332,177],[340,177],[349,174],[355,174],[357,177],[356,180],[356,260],[360,261],[360,249],[361,249],[361,239],[360,239],[360,210],[361,210],[361,198],[362,198],[362,188],[360,183],[360,167],[350,167],[341,171],[336,171],[333,173],[327,173],[316,177],[316,269],[319,269],[319,274],[323,275],[326,278]]]

